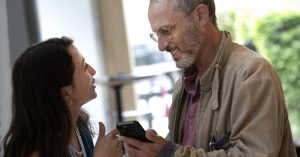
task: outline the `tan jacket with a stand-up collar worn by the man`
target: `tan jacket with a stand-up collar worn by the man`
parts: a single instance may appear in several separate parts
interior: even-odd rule
[[[180,146],[174,157],[296,157],[280,84],[264,58],[223,32],[217,55],[200,78],[196,148]],[[168,138],[179,144],[188,104],[182,89],[180,78],[169,115]],[[209,148],[213,137],[228,132],[223,149]]]

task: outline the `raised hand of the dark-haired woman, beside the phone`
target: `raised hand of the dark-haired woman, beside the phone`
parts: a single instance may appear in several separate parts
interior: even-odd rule
[[[114,129],[105,135],[105,126],[99,122],[99,136],[94,148],[94,157],[121,157],[121,148],[118,140],[118,131]]]

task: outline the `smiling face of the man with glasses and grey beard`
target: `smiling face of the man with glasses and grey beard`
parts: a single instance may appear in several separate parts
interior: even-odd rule
[[[191,66],[203,39],[189,16],[175,8],[172,0],[150,1],[148,13],[159,50],[170,52],[178,68]]]

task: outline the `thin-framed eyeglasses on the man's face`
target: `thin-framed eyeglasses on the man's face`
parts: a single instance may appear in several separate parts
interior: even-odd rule
[[[174,34],[173,30],[175,29],[176,25],[179,22],[183,21],[184,19],[185,18],[178,20],[177,22],[175,22],[174,25],[169,25],[169,26],[160,28],[157,33],[155,33],[155,32],[150,33],[150,38],[157,43],[158,43],[158,41],[164,42],[167,40],[172,40],[173,34]]]

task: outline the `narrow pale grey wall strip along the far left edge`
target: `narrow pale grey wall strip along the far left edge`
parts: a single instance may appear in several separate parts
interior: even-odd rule
[[[0,0],[0,139],[3,138],[10,123],[10,58],[7,30],[6,0]],[[0,147],[0,156],[3,150]]]

